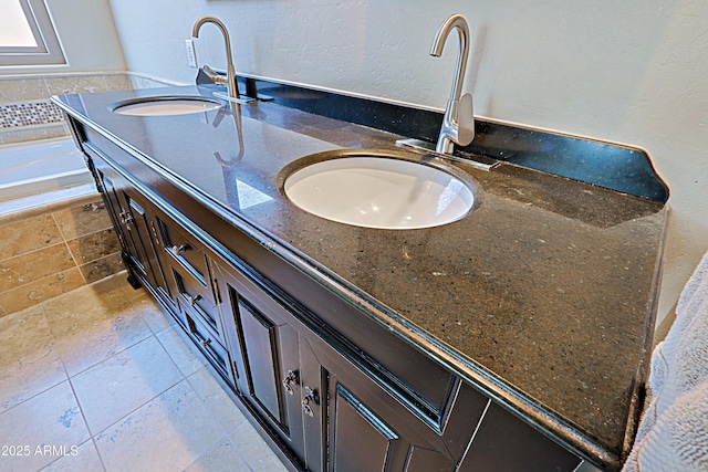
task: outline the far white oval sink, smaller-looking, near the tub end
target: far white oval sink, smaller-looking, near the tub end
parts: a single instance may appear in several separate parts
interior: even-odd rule
[[[119,115],[167,116],[209,112],[220,106],[221,103],[202,97],[160,96],[119,102],[114,104],[111,111]]]

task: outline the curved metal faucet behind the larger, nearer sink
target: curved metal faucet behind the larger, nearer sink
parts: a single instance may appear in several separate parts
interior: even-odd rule
[[[465,17],[461,14],[452,14],[445,20],[435,35],[433,46],[430,48],[430,55],[439,57],[442,54],[442,48],[452,29],[457,29],[460,49],[457,56],[457,70],[452,80],[450,99],[448,99],[447,107],[445,108],[440,136],[435,147],[437,153],[444,154],[451,154],[455,149],[455,143],[460,146],[467,146],[475,138],[472,96],[470,94],[461,95],[465,70],[467,69],[467,57],[469,55],[469,27],[467,25]]]

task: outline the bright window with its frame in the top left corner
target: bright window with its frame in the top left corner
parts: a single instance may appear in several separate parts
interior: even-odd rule
[[[0,0],[0,65],[65,64],[42,0]]]

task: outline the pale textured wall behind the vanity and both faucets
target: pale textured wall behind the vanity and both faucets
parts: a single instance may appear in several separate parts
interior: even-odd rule
[[[708,2],[700,0],[108,0],[127,67],[194,82],[184,40],[201,14],[229,28],[237,71],[442,108],[465,14],[465,90],[494,119],[646,148],[670,186],[659,318],[708,249]],[[451,38],[454,39],[454,36]],[[199,63],[225,66],[202,28]]]

